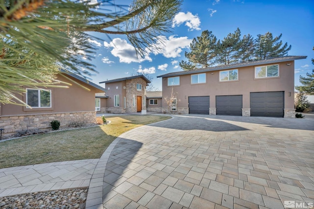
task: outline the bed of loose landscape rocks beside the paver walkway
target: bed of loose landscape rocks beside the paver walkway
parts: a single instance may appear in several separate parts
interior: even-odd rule
[[[0,197],[0,209],[85,209],[88,188]]]

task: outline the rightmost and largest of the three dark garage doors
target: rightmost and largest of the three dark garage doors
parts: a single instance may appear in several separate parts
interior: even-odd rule
[[[250,93],[251,116],[283,117],[284,92]]]

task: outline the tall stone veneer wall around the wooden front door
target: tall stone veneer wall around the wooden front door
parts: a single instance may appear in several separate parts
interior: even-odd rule
[[[142,91],[137,91],[136,84],[142,84]],[[144,101],[146,103],[146,81],[143,80],[141,77],[129,79],[126,81],[126,103],[127,103],[127,113],[136,113],[136,103],[137,97],[142,96],[142,110],[146,110],[146,105],[144,106]],[[133,105],[133,98],[135,97],[135,105]]]

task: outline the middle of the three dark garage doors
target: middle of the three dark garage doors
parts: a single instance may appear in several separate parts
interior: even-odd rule
[[[242,116],[242,95],[216,96],[216,114]]]

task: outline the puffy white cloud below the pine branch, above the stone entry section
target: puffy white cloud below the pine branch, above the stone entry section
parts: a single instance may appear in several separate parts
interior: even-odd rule
[[[110,43],[104,42],[104,46],[106,48],[112,48],[111,54],[115,57],[119,57],[120,63],[141,63],[145,60],[152,62],[152,58],[149,56],[145,56],[144,58],[137,57],[135,48],[131,44],[128,44],[126,40],[115,38]]]

